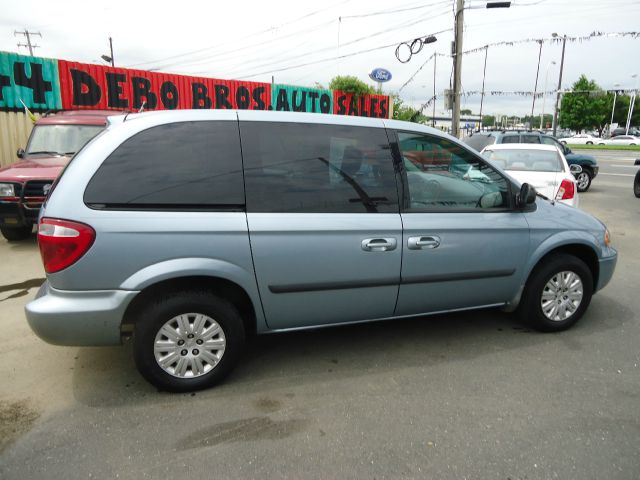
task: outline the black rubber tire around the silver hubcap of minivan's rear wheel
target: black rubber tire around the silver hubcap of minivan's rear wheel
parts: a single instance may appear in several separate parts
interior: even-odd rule
[[[155,357],[154,345],[156,335],[159,334],[160,329],[167,322],[177,316],[188,316],[189,314],[205,315],[216,322],[222,330],[226,344],[218,363],[206,373],[195,376],[194,370],[190,369],[185,372],[185,376],[180,377],[169,373],[159,365]],[[174,324],[177,324],[177,322],[174,322]],[[219,341],[219,338],[221,338],[219,334],[216,337],[218,338],[211,340]],[[163,338],[170,342],[168,337]],[[196,339],[192,338],[187,341],[195,342]],[[150,302],[143,308],[134,328],[134,359],[142,376],[159,390],[190,392],[209,388],[220,382],[238,362],[244,341],[245,332],[242,318],[238,310],[230,302],[206,291],[172,292]],[[176,345],[180,344],[176,343]],[[184,344],[182,347],[176,347],[177,349],[183,349],[179,353],[176,350],[176,353],[173,354],[177,356],[175,370],[179,368],[178,360],[181,357],[185,357],[185,360],[182,360],[183,362],[193,359],[194,356],[191,353],[200,352],[197,349],[202,350],[200,352],[202,356],[199,358],[204,358],[205,347],[201,345],[202,343],[198,345],[191,343],[191,345]],[[188,349],[193,350],[189,351]],[[187,353],[185,354],[184,352]],[[195,363],[191,365],[195,365]],[[167,368],[174,367],[170,365]],[[192,376],[189,378],[188,375]]]

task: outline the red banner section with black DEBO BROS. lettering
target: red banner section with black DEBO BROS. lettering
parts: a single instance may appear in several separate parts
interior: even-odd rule
[[[63,109],[270,110],[271,84],[58,61]]]

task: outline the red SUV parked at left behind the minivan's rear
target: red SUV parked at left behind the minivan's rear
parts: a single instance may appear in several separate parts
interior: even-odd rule
[[[67,111],[40,118],[20,161],[0,168],[0,232],[9,241],[31,235],[47,192],[69,159],[104,130],[107,111]]]

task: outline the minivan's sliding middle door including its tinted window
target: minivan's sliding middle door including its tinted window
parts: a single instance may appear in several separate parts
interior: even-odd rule
[[[251,250],[269,327],[392,316],[402,224],[382,122],[365,128],[239,116]]]

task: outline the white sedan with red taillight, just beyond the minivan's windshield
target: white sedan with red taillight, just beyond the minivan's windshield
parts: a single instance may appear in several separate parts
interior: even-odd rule
[[[554,145],[503,143],[489,145],[482,155],[520,183],[528,183],[550,200],[578,206],[578,187],[567,159]]]

